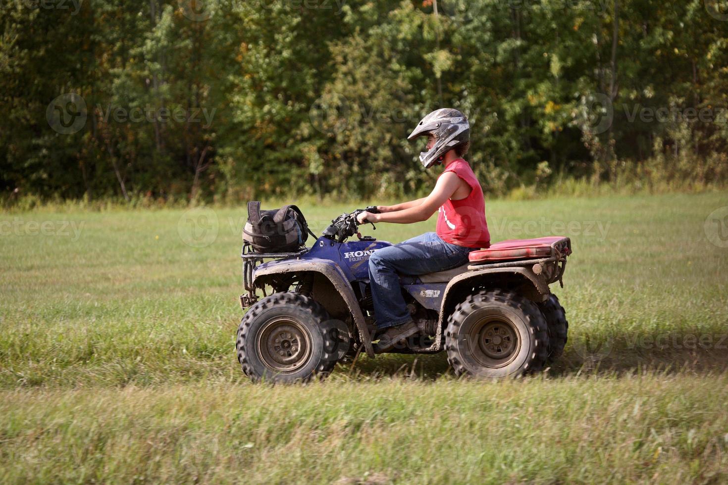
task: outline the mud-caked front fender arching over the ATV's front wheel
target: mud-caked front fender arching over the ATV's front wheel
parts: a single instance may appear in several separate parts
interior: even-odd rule
[[[364,342],[364,348],[367,355],[370,358],[374,357],[374,350],[371,346],[371,336],[369,330],[366,327],[364,315],[357,302],[357,297],[354,294],[352,286],[347,281],[347,277],[344,275],[344,271],[341,270],[339,265],[331,260],[283,260],[277,261],[276,264],[261,265],[256,268],[253,273],[253,285],[260,281],[259,278],[265,280],[265,276],[281,274],[281,273],[317,273],[326,281],[333,285],[333,289],[341,296],[344,304],[347,305],[349,312],[354,318],[354,323],[357,326],[357,331],[361,341]],[[316,281],[318,278],[315,278]],[[326,302],[320,302],[327,307],[328,305],[336,305],[335,301],[331,301],[331,298],[327,299]]]

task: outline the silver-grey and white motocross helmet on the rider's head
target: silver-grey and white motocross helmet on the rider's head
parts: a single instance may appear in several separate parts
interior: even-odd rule
[[[440,108],[425,116],[407,140],[414,140],[423,135],[435,137],[435,145],[430,151],[419,154],[419,161],[424,168],[429,169],[432,165],[443,161],[445,153],[470,141],[470,124],[465,115],[455,108]]]

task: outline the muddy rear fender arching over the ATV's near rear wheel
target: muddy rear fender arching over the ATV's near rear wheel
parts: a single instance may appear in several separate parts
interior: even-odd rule
[[[440,305],[440,327],[453,312],[455,305],[467,297],[473,286],[513,289],[529,300],[542,302],[551,293],[546,282],[531,270],[531,267],[484,268],[467,271],[452,278],[445,289]]]

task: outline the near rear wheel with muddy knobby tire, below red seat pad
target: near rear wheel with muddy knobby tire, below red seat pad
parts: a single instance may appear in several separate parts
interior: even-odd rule
[[[543,369],[548,330],[534,302],[502,289],[478,292],[448,318],[445,350],[457,376],[518,377]]]

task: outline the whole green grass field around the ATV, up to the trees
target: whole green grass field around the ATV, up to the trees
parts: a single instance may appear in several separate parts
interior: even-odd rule
[[[468,382],[442,354],[362,357],[275,387],[234,354],[245,209],[0,214],[0,483],[723,483],[726,206],[492,201],[494,241],[571,236],[558,364]],[[303,209],[320,232],[352,207]]]

